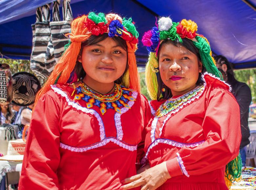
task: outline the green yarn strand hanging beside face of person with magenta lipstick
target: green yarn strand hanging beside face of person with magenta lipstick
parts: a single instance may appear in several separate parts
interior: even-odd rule
[[[211,48],[209,44],[200,36],[196,36],[197,42],[193,41],[194,45],[199,49],[199,54],[201,57],[201,61],[203,66],[205,67],[208,73],[214,74],[216,77],[219,77],[223,80],[222,75],[218,68],[213,63],[212,57],[210,55]]]

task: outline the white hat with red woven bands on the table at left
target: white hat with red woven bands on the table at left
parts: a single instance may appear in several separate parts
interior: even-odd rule
[[[0,160],[22,162],[26,143],[22,139],[9,141],[7,155],[0,157]]]

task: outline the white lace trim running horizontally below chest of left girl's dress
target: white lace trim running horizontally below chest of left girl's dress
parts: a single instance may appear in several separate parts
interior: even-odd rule
[[[74,147],[74,146],[69,146],[69,145],[66,145],[64,143],[60,143],[60,147],[61,148],[64,148],[64,149],[67,149],[67,150],[70,150],[72,152],[85,152],[87,150],[91,150],[91,149],[94,149],[94,148],[98,148],[98,147],[101,147],[101,146],[104,146],[106,145],[107,143],[109,142],[113,142],[117,145],[119,145],[120,147],[122,148],[125,148],[127,150],[130,150],[130,151],[135,151],[137,150],[137,145],[128,145],[122,141],[119,141],[118,139],[116,138],[106,138],[98,143],[95,143],[93,145],[90,145],[90,146],[84,146],[84,147]]]

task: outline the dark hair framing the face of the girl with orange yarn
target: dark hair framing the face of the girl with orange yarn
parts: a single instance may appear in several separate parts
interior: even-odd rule
[[[107,33],[104,33],[104,34],[99,35],[99,36],[95,36],[95,35],[90,36],[90,38],[88,38],[88,40],[81,43],[81,49],[80,49],[80,52],[78,54],[78,57],[82,56],[83,47],[97,44],[98,42],[101,42],[101,41],[105,40],[108,37],[109,36],[108,36]],[[125,40],[123,40],[121,37],[117,37],[117,36],[114,36],[112,39],[117,43],[118,46],[122,47],[127,52],[127,45],[126,45]],[[77,75],[78,79],[81,79],[81,78],[85,77],[86,73],[83,69],[82,64],[78,60],[76,60],[76,65],[75,65],[74,69],[75,69],[75,72],[76,72],[76,75]],[[126,61],[125,71],[122,74],[122,76],[115,81],[115,83],[117,83],[119,85],[121,84],[121,82],[123,81],[123,76],[127,72],[127,70],[128,70],[128,52],[127,52],[127,61]]]

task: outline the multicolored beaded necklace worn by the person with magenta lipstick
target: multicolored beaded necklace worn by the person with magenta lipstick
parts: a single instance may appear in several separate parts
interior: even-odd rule
[[[156,111],[155,117],[160,118],[160,117],[167,115],[171,111],[177,110],[184,103],[190,101],[193,98],[196,98],[197,96],[200,96],[200,94],[203,92],[203,90],[204,90],[204,86],[199,85],[196,88],[194,88],[193,90],[187,92],[186,94],[184,94],[176,99],[170,98],[170,99],[166,100],[166,102],[164,102],[162,105],[160,105],[160,107]]]

